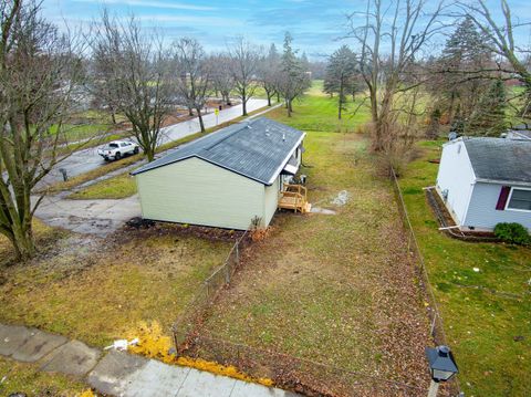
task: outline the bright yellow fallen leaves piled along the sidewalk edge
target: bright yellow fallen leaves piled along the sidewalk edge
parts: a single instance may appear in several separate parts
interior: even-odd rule
[[[177,357],[175,354],[170,354],[171,338],[164,335],[160,324],[156,321],[150,323],[140,322],[137,328],[128,333],[129,339],[135,337],[138,338],[138,344],[129,346],[129,351],[133,353],[150,358],[157,358],[166,364],[177,364],[243,382],[258,383],[268,387],[273,386],[274,384],[270,378],[253,378],[250,375],[240,372],[233,365],[221,365],[202,358]],[[83,397],[92,396],[87,395]]]

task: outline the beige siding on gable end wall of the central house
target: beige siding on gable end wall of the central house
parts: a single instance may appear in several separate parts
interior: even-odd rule
[[[146,219],[242,230],[253,217],[264,219],[262,184],[196,157],[136,180]]]

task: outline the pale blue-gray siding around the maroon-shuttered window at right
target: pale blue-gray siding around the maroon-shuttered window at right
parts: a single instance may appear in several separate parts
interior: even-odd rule
[[[492,230],[500,222],[518,222],[531,230],[531,212],[510,209],[498,211],[496,209],[501,186],[483,182],[476,184],[464,226]]]

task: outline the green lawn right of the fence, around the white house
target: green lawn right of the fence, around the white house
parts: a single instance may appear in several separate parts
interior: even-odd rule
[[[404,169],[400,184],[461,387],[467,396],[531,395],[531,250],[437,231],[420,188],[435,182],[438,165],[427,159],[439,157],[440,144],[420,143],[421,156]]]

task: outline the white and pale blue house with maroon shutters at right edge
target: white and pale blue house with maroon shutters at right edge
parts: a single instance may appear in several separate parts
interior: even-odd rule
[[[458,138],[442,146],[437,191],[464,230],[531,230],[531,140]]]

